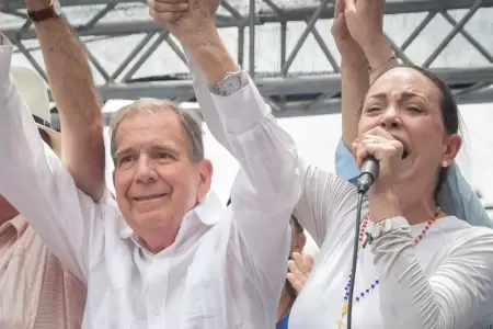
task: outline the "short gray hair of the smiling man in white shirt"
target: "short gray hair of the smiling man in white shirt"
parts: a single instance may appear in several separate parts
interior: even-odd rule
[[[115,136],[122,122],[137,113],[147,112],[149,114],[159,114],[172,112],[177,115],[180,124],[184,128],[188,138],[190,159],[193,162],[204,160],[204,138],[202,131],[202,121],[193,111],[184,110],[169,100],[140,99],[126,105],[115,112],[110,124],[111,152],[113,161],[117,149]]]

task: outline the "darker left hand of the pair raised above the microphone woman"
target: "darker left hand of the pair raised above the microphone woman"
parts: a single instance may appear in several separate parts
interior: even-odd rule
[[[352,66],[359,66],[366,61],[365,53],[347,29],[344,10],[345,0],[336,0],[331,33],[341,54],[342,61]]]

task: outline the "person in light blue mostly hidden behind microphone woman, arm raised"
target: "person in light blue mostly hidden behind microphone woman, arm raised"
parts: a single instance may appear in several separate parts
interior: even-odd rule
[[[366,22],[381,26],[381,14],[378,11],[369,11],[369,20]],[[359,113],[357,111],[368,91],[369,78],[375,79],[383,70],[398,65],[398,61],[389,55],[392,54],[389,47],[382,47],[378,53],[383,57],[374,59],[377,63],[377,69],[371,77],[368,77],[368,61],[360,46],[351,37],[344,15],[335,21],[332,34],[343,58],[343,138],[335,152],[335,170],[339,177],[355,183],[359,170],[347,146],[351,147],[358,134]],[[383,65],[379,66],[379,64]],[[449,215],[455,215],[474,226],[493,228],[493,222],[483,204],[455,162],[447,168],[447,175],[444,177],[440,191],[437,191],[437,203]]]

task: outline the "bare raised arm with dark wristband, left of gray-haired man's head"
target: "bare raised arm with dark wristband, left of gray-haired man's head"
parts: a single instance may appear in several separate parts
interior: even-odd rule
[[[37,11],[49,2],[26,0],[26,5]],[[60,115],[64,166],[77,186],[99,201],[105,186],[103,118],[88,56],[65,19],[35,22],[34,27]]]

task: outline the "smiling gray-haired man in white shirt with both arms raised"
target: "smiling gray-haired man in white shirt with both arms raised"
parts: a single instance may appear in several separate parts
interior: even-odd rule
[[[210,4],[190,1],[170,31],[210,84],[215,106],[204,109],[206,122],[241,163],[227,209],[209,192],[199,123],[160,100],[137,101],[114,117],[119,209],[95,204],[43,150],[8,71],[0,71],[2,86],[13,89],[0,90],[0,193],[88,283],[84,328],[274,326],[299,193],[296,148],[238,71]],[[9,55],[0,55],[2,68]]]

